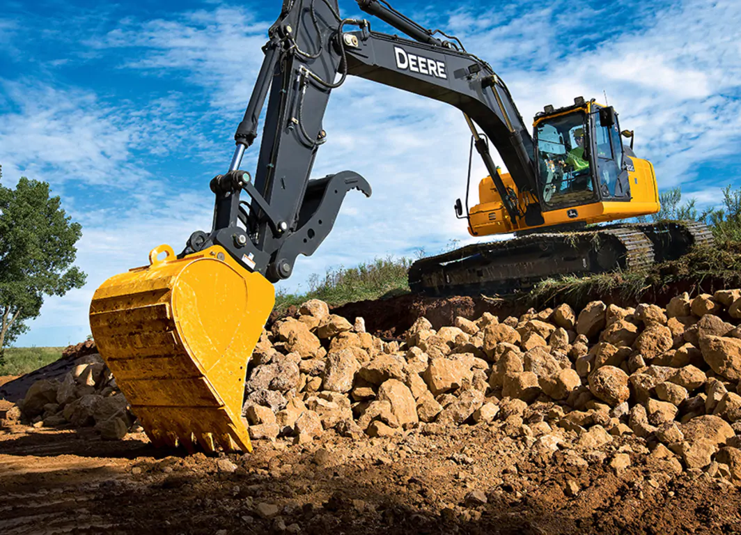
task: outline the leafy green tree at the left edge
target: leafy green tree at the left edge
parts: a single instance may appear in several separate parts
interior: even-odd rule
[[[46,182],[21,177],[14,190],[0,183],[0,350],[28,330],[44,296],[84,285],[72,265],[82,227],[60,205]]]

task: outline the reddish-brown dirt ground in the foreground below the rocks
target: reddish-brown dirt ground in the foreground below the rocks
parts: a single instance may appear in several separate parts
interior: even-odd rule
[[[677,475],[634,439],[547,455],[521,429],[439,431],[329,432],[207,457],[155,450],[143,434],[106,442],[90,428],[11,424],[0,429],[0,533],[741,533],[737,488]],[[619,473],[617,451],[631,456]],[[471,491],[487,503],[467,503]]]

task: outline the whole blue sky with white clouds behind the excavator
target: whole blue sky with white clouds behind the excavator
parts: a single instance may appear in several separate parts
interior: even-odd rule
[[[392,2],[455,33],[508,84],[522,116],[574,96],[602,99],[636,130],[662,188],[700,204],[741,185],[741,2]],[[47,299],[18,345],[64,345],[90,332],[87,308],[108,276],[161,243],[207,230],[208,182],[227,167],[281,2],[16,2],[0,11],[0,164],[4,183],[50,182],[83,225],[88,283]],[[360,16],[341,0],[345,16]],[[374,30],[386,30],[373,22]],[[279,288],[376,256],[470,241],[453,215],[465,194],[468,133],[457,110],[359,79],[333,92],[315,176],[352,169],[373,196],[348,196],[314,256]],[[253,170],[257,147],[243,169]],[[482,165],[474,165],[472,192]],[[356,193],[356,192],[353,192]]]

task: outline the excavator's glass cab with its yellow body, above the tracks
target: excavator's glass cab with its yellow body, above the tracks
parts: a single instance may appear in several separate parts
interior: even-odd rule
[[[659,210],[654,167],[622,144],[613,107],[582,97],[571,106],[546,106],[535,116],[533,143],[536,191],[519,190],[508,173],[500,176],[525,216],[508,216],[487,176],[479,184],[479,204],[469,210],[472,236],[583,226]],[[534,209],[538,217],[528,218]]]

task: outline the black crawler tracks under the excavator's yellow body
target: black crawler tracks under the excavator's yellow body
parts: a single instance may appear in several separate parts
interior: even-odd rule
[[[553,276],[647,268],[711,244],[710,230],[696,222],[537,233],[418,260],[409,269],[409,287],[430,296],[511,294]]]

